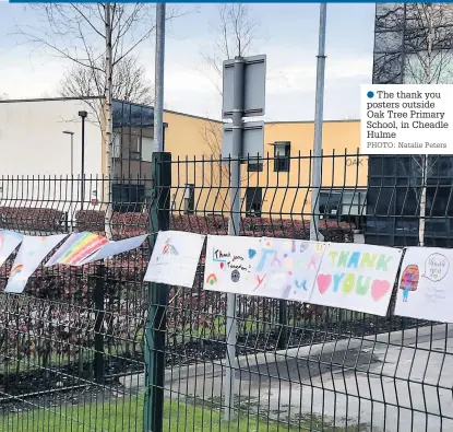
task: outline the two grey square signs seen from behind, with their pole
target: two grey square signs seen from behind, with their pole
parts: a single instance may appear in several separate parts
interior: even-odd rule
[[[222,157],[229,164],[230,215],[228,235],[238,235],[241,218],[240,164],[248,154],[257,157],[263,154],[263,121],[245,122],[243,117],[264,115],[265,103],[265,56],[236,57],[224,61],[223,118],[224,124]],[[236,295],[227,295],[226,313],[226,369],[224,381],[225,420],[234,418],[236,392]]]

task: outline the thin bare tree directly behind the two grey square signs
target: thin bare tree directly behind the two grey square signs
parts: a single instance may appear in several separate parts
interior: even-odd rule
[[[224,60],[250,55],[253,43],[258,37],[259,25],[250,13],[248,4],[224,3],[217,7],[217,20],[213,24],[213,28],[217,37],[214,39],[212,50],[202,52],[202,57],[211,71],[214,72],[210,79],[218,92],[220,102]],[[219,104],[218,112],[220,109]],[[205,180],[215,185],[228,185],[229,183],[229,166],[227,163],[220,162],[222,133],[223,126],[218,121],[205,122],[201,131],[202,142],[213,160],[216,161],[212,171],[206,174]],[[246,173],[245,176],[248,177],[250,173]],[[219,189],[218,199],[222,201],[222,208],[227,208],[227,188],[220,187]]]

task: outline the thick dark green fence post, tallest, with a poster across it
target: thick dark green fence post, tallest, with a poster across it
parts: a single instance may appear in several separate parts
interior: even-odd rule
[[[150,213],[151,246],[153,233],[170,225],[171,153],[153,153],[153,199]],[[168,287],[148,285],[148,316],[145,326],[145,404],[144,432],[162,432],[164,424],[165,336]]]

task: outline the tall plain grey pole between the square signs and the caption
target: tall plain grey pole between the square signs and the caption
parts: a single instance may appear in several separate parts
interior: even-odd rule
[[[310,240],[323,241],[319,232],[319,194],[321,188],[321,154],[322,154],[322,122],[324,108],[324,71],[325,71],[325,24],[327,4],[320,5],[320,33],[318,45],[317,65],[317,95],[314,107],[314,144],[313,144],[313,172],[311,189],[311,220]]]

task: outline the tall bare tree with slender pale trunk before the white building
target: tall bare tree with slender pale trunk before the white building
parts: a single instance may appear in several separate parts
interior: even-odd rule
[[[150,3],[60,3],[31,5],[37,26],[21,26],[26,43],[63,58],[91,73],[104,105],[98,112],[109,178],[112,165],[114,77],[121,62],[147,40],[155,28],[154,5]],[[170,12],[170,16],[174,16]],[[110,238],[111,187],[107,190],[106,234]]]

